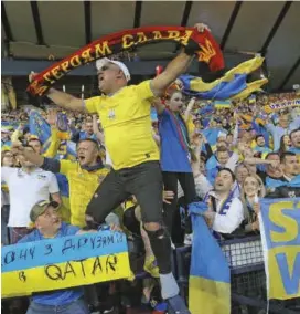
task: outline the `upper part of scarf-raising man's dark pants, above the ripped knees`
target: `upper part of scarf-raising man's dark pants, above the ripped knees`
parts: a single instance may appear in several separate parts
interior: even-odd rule
[[[86,209],[103,223],[108,213],[135,196],[141,207],[142,222],[162,222],[162,175],[159,161],[148,161],[121,170],[111,170],[94,193]]]

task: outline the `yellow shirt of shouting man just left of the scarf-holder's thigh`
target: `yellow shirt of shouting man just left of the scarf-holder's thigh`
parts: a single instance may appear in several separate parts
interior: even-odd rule
[[[84,227],[85,211],[95,190],[109,172],[108,168],[87,171],[81,168],[79,163],[61,160],[60,172],[65,175],[69,186],[71,223]]]

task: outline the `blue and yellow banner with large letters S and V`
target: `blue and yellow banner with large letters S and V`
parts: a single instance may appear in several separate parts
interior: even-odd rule
[[[262,199],[259,218],[268,297],[300,297],[300,198]]]

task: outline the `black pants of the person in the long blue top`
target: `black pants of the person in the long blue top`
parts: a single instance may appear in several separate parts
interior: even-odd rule
[[[195,180],[192,172],[162,172],[164,190],[173,191],[174,199],[171,203],[163,205],[163,220],[164,223],[172,234],[174,214],[176,211],[178,203],[178,181],[180,182],[183,192],[185,206],[196,200]]]

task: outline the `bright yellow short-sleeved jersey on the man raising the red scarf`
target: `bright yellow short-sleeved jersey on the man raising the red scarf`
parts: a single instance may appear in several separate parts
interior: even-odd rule
[[[126,86],[113,96],[85,101],[89,113],[99,114],[114,169],[159,160],[150,117],[150,100],[153,96],[150,81],[144,81],[139,85]]]

